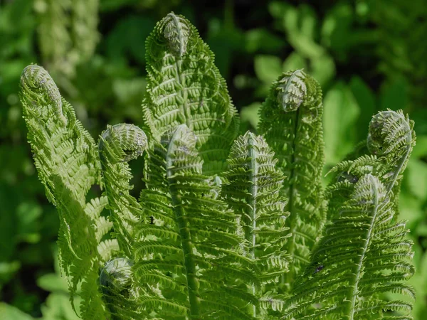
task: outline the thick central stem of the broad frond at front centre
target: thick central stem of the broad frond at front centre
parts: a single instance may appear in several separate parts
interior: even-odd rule
[[[166,164],[167,164],[167,181],[169,184],[169,193],[172,198],[172,205],[174,207],[174,213],[176,222],[178,223],[179,235],[181,237],[182,250],[184,252],[184,265],[186,272],[186,281],[187,281],[187,291],[189,293],[189,304],[190,304],[190,319],[191,320],[201,320],[201,300],[199,294],[199,280],[196,277],[196,262],[193,258],[194,245],[191,242],[191,233],[190,228],[186,223],[184,218],[185,211],[179,199],[179,193],[177,190],[177,181],[174,178],[174,173],[172,172],[173,164],[173,154],[174,149],[176,148],[174,144],[174,139],[181,132],[180,129],[183,129],[182,126],[176,129],[174,137],[172,137],[171,142],[169,142],[169,147],[167,149],[166,155]]]

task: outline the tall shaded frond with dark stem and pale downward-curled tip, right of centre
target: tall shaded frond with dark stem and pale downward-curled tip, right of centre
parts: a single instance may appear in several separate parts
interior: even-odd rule
[[[320,85],[302,70],[284,73],[273,82],[260,111],[259,132],[285,175],[283,195],[288,199],[285,209],[290,212],[286,225],[292,238],[284,250],[294,263],[283,282],[290,286],[308,264],[325,219],[322,114]]]

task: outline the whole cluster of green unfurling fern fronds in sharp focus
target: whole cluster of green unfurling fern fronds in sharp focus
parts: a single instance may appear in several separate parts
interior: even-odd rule
[[[98,144],[46,70],[21,76],[82,319],[411,319],[413,252],[397,203],[415,144],[407,116],[376,114],[323,190],[322,91],[310,75],[281,75],[260,135],[236,137],[214,55],[183,16],[157,24],[147,63],[144,127],[108,126]],[[137,199],[127,162],[138,156]],[[102,196],[88,199],[93,185]]]

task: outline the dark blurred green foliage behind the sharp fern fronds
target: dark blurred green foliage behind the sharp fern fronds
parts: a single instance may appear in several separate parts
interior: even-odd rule
[[[426,319],[425,0],[0,0],[0,319],[78,319],[56,263],[58,218],[26,143],[21,70],[47,68],[93,137],[106,124],[140,125],[144,41],[172,10],[189,18],[216,54],[242,132],[255,131],[258,108],[283,71],[304,68],[320,81],[325,172],[366,138],[375,112],[403,109],[415,120],[400,206],[415,242],[414,316]],[[139,165],[132,164],[135,193]]]

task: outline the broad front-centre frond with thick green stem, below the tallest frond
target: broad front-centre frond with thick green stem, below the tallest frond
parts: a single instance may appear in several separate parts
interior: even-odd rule
[[[256,301],[246,284],[258,285],[254,263],[202,165],[185,124],[149,151],[141,201],[153,224],[140,225],[133,252],[137,283],[154,293],[140,304],[162,319],[251,319],[248,303]]]

